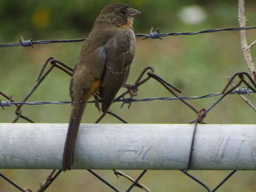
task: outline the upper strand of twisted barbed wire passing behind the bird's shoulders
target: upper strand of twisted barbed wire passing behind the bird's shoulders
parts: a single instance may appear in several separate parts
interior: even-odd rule
[[[149,34],[135,34],[135,37],[144,37],[142,39],[147,38],[158,38],[162,39],[161,37],[166,36],[172,36],[172,35],[197,35],[197,34],[203,34],[203,33],[214,33],[218,31],[235,31],[235,30],[248,30],[248,29],[255,29],[256,27],[229,27],[229,28],[222,28],[222,29],[207,29],[207,30],[201,30],[196,32],[183,32],[183,33],[159,33],[159,28],[157,28],[157,32],[153,32],[153,27],[150,29]],[[9,47],[9,46],[23,46],[23,47],[34,47],[36,44],[49,44],[49,43],[71,43],[71,42],[81,42],[84,41],[86,38],[80,38],[80,39],[62,39],[62,40],[40,40],[40,41],[34,41],[33,39],[24,40],[22,36],[20,36],[19,42],[20,43],[2,43],[0,44],[0,47]]]

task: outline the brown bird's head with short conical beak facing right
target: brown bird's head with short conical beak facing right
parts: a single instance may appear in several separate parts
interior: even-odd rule
[[[129,27],[132,26],[132,20],[138,14],[141,14],[138,10],[115,3],[105,6],[100,13],[100,18],[118,27]]]

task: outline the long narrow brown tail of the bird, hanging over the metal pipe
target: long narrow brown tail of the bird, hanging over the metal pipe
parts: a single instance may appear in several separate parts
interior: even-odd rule
[[[81,122],[86,102],[76,102],[73,104],[69,120],[68,133],[62,159],[62,170],[70,170],[74,163],[74,149],[79,124]]]

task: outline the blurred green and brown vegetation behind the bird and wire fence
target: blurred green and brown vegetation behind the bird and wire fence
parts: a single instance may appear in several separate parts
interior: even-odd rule
[[[18,42],[19,36],[26,39],[73,39],[83,38],[90,32],[94,19],[103,6],[115,1],[4,1],[0,0],[0,43]],[[236,27],[236,1],[174,1],[174,0],[126,0],[122,1],[143,12],[135,19],[135,33],[148,34],[151,27],[159,27],[162,33],[173,31],[198,31],[209,28]],[[248,26],[256,26],[254,1],[246,2]],[[186,8],[201,12],[198,22],[187,21],[181,15]],[[191,16],[191,15],[190,15]],[[248,31],[249,41],[255,39],[255,30]],[[44,61],[50,56],[74,67],[82,43],[60,43],[32,47],[0,47],[0,90],[20,101],[35,84],[35,79]],[[255,48],[252,50],[255,55]],[[140,71],[151,66],[156,74],[179,87],[182,95],[203,95],[220,92],[226,76],[237,71],[248,71],[245,65],[238,31],[225,31],[195,36],[169,36],[163,41],[137,38],[137,52],[132,63],[128,83],[135,81]],[[33,94],[29,101],[62,101],[69,98],[70,78],[55,69]],[[122,90],[123,91],[123,90]],[[138,98],[171,97],[169,92],[154,81],[140,87]],[[1,98],[2,99],[2,98]],[[190,101],[196,108],[207,108],[216,98]],[[251,94],[249,99],[255,99]],[[195,118],[193,111],[179,101],[152,101],[133,103],[130,109],[114,103],[111,110],[129,123],[188,123]],[[0,122],[11,122],[14,107],[1,111]],[[22,113],[37,123],[68,123],[69,105],[24,106]],[[99,116],[94,105],[88,105],[83,123],[93,123]],[[254,124],[254,111],[237,95],[229,95],[205,118],[211,124]],[[25,122],[20,120],[21,122]],[[119,123],[106,117],[102,123]],[[21,186],[33,190],[44,180],[49,170],[2,170],[3,174]],[[98,171],[120,189],[130,183],[117,179],[111,171]],[[127,171],[132,177],[138,171]],[[192,171],[210,186],[215,186],[227,171]],[[255,172],[239,171],[221,191],[255,191]],[[179,171],[149,171],[141,180],[153,191],[204,191],[197,183]],[[69,171],[60,175],[49,191],[111,191],[86,171]],[[0,191],[17,191],[0,179]],[[140,189],[133,189],[140,191]]]

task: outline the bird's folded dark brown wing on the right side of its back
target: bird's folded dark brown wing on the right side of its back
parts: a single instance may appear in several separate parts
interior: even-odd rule
[[[100,86],[101,109],[103,113],[108,110],[118,90],[127,79],[135,52],[134,35],[113,36],[107,42],[105,50],[106,63]]]

